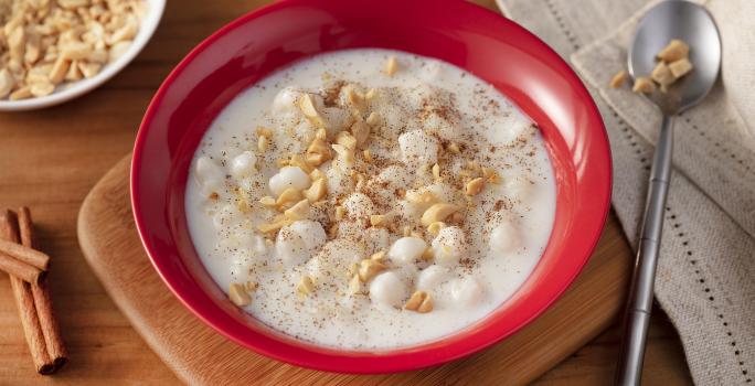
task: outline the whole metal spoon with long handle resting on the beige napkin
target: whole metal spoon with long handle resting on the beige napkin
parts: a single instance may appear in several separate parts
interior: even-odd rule
[[[642,375],[663,208],[671,176],[673,119],[708,95],[721,67],[721,36],[711,14],[695,3],[668,0],[650,9],[640,20],[629,46],[629,74],[634,78],[649,76],[657,64],[656,55],[672,39],[690,45],[690,62],[694,68],[671,85],[667,93],[656,90],[648,95],[660,108],[663,119],[652,159],[641,237],[627,301],[617,385],[639,385]]]

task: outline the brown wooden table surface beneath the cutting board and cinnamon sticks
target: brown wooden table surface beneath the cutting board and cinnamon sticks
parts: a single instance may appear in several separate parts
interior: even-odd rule
[[[40,247],[54,259],[54,307],[71,351],[71,363],[59,374],[34,373],[8,277],[0,274],[0,385],[178,383],[93,276],[76,240],[76,215],[89,189],[131,150],[147,104],[178,61],[223,24],[266,2],[169,1],[145,51],[99,89],[59,107],[0,114],[0,206],[32,207]],[[476,2],[495,9],[492,0]],[[613,215],[608,226],[618,226]],[[609,383],[619,335],[615,324],[539,384]],[[645,379],[691,383],[679,337],[660,310],[651,322]]]

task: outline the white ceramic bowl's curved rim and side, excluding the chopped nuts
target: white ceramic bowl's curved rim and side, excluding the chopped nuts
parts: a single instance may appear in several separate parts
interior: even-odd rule
[[[128,47],[128,51],[120,55],[115,62],[105,65],[103,71],[94,77],[66,83],[61,87],[57,87],[54,93],[47,96],[21,100],[0,99],[0,111],[33,110],[62,104],[99,87],[115,76],[115,74],[124,69],[152,37],[152,34],[155,33],[155,30],[157,30],[160,19],[162,18],[162,11],[166,8],[166,0],[143,1],[147,1],[149,8],[147,9],[147,15],[141,20],[139,32],[137,33],[136,39],[134,39],[134,43]]]

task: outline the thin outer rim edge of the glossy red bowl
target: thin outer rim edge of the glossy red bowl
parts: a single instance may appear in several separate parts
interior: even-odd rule
[[[168,286],[168,288],[173,292],[173,294],[183,303],[184,307],[187,307],[196,318],[202,320],[204,323],[208,325],[212,326],[215,331],[224,335],[225,337],[234,341],[235,343],[251,349],[259,354],[266,355],[268,357],[290,363],[294,365],[302,366],[302,367],[308,367],[312,369],[320,369],[320,371],[329,371],[329,372],[341,372],[341,373],[354,373],[354,374],[375,374],[375,373],[391,373],[391,372],[403,372],[403,371],[411,371],[411,369],[419,369],[419,368],[425,368],[434,365],[439,365],[443,363],[447,363],[464,356],[468,356],[470,354],[474,354],[476,352],[479,352],[483,349],[487,349],[503,339],[511,336],[519,330],[521,330],[523,326],[528,325],[532,320],[541,315],[543,312],[545,312],[552,304],[555,302],[566,289],[571,286],[571,283],[574,281],[574,279],[578,276],[578,274],[582,271],[584,266],[587,264],[589,260],[592,253],[594,251],[600,235],[603,233],[609,207],[610,207],[610,195],[612,195],[612,187],[613,187],[613,167],[612,167],[612,156],[610,156],[610,147],[608,142],[608,137],[605,130],[605,126],[603,124],[603,119],[600,117],[599,110],[597,109],[597,106],[595,105],[593,98],[589,96],[589,93],[585,88],[584,84],[581,82],[579,77],[573,72],[573,69],[564,62],[559,54],[551,49],[547,44],[542,42],[538,36],[532,34],[531,32],[527,31],[515,22],[504,18],[501,14],[498,14],[491,10],[488,10],[483,7],[476,6],[474,3],[468,3],[466,1],[459,1],[459,2],[465,2],[469,7],[477,8],[478,11],[481,12],[487,12],[490,14],[495,14],[501,19],[502,22],[509,23],[509,28],[513,29],[519,29],[521,32],[524,34],[530,35],[533,37],[533,41],[535,44],[538,44],[538,50],[545,50],[549,51],[551,54],[553,54],[553,58],[555,60],[556,64],[562,67],[562,73],[568,78],[570,83],[572,85],[576,85],[578,90],[583,93],[586,97],[582,99],[582,103],[584,103],[587,107],[588,114],[594,118],[596,122],[599,124],[599,127],[596,127],[594,130],[594,135],[599,136],[597,141],[595,142],[595,148],[592,149],[592,152],[594,156],[598,159],[597,161],[602,161],[605,164],[606,170],[604,170],[605,174],[605,181],[595,181],[598,183],[598,185],[602,185],[602,189],[598,191],[594,192],[594,199],[598,202],[596,205],[599,207],[599,211],[597,214],[599,214],[598,217],[595,218],[595,227],[592,229],[592,233],[588,234],[587,237],[592,239],[592,243],[589,244],[589,247],[587,248],[588,253],[585,254],[585,256],[582,258],[582,260],[575,265],[577,268],[567,277],[565,276],[564,285],[561,286],[557,290],[554,290],[551,292],[550,298],[544,301],[542,307],[535,312],[533,312],[529,318],[520,322],[518,325],[512,328],[510,331],[508,331],[504,334],[500,334],[499,336],[491,339],[486,342],[479,342],[475,344],[474,346],[466,347],[465,350],[457,350],[457,351],[449,351],[447,353],[444,353],[443,356],[433,356],[433,357],[425,357],[418,361],[414,362],[383,362],[380,365],[376,366],[368,366],[368,367],[349,367],[344,368],[343,366],[338,366],[338,365],[331,365],[327,362],[327,358],[318,358],[317,355],[318,353],[310,353],[310,357],[295,357],[287,355],[281,352],[277,351],[270,351],[265,347],[257,346],[248,341],[245,341],[241,339],[240,336],[230,334],[226,332],[223,328],[223,325],[220,325],[215,323],[214,320],[209,319],[209,317],[204,315],[200,310],[195,308],[195,305],[192,303],[192,300],[189,298],[185,298],[180,289],[178,289],[174,286],[173,279],[171,278],[169,271],[167,270],[167,266],[163,266],[161,264],[162,261],[160,258],[156,258],[157,253],[153,250],[151,244],[147,242],[147,234],[149,233],[148,228],[146,227],[145,223],[142,222],[142,218],[140,216],[140,210],[139,210],[139,200],[138,200],[138,186],[139,186],[139,180],[138,180],[138,173],[136,172],[137,168],[136,165],[140,164],[141,162],[141,156],[142,152],[140,151],[141,148],[143,147],[145,143],[145,137],[146,137],[146,131],[147,128],[150,126],[150,122],[152,121],[155,115],[157,114],[158,106],[160,105],[160,101],[163,99],[168,88],[173,84],[174,79],[183,72],[183,69],[191,63],[201,52],[206,50],[209,46],[211,46],[216,40],[220,37],[224,36],[226,33],[230,31],[236,29],[237,26],[247,23],[249,21],[253,21],[254,19],[264,15],[268,12],[273,12],[281,7],[286,7],[286,3],[289,2],[287,0],[281,0],[277,1],[274,3],[270,3],[268,6],[262,7],[257,10],[254,10],[252,12],[248,12],[232,22],[225,24],[222,26],[220,30],[215,31],[212,33],[210,36],[208,36],[205,40],[203,40],[200,44],[198,44],[194,49],[192,49],[187,56],[181,60],[181,62],[170,72],[170,74],[166,77],[163,83],[160,85],[158,88],[157,93],[150,100],[150,104],[145,112],[145,117],[141,121],[141,125],[139,127],[139,131],[136,137],[135,146],[134,146],[134,154],[131,159],[131,170],[130,170],[130,196],[131,196],[131,211],[135,216],[136,225],[137,225],[137,230],[139,234],[139,238],[147,251],[148,257],[150,258],[150,261],[155,269],[157,270],[158,275],[162,279],[162,281]],[[589,174],[589,173],[588,173]],[[593,173],[597,174],[597,173]],[[584,176],[583,176],[584,178]],[[593,175],[593,178],[598,178],[597,175]],[[487,318],[487,317],[486,317]],[[454,336],[455,334],[451,334],[449,336]],[[443,340],[443,339],[442,339]],[[317,345],[313,345],[316,346]],[[404,350],[406,347],[398,347],[396,351]],[[412,349],[412,347],[408,347]],[[330,349],[328,349],[330,350]],[[338,350],[336,350],[338,351]],[[348,352],[343,351],[344,353],[353,353],[353,352]],[[369,354],[370,353],[365,353]],[[381,354],[379,358],[381,360],[387,360],[392,355],[392,351],[381,351]],[[374,356],[371,357],[374,361]],[[325,361],[323,361],[325,360]],[[370,357],[368,358],[370,360]]]

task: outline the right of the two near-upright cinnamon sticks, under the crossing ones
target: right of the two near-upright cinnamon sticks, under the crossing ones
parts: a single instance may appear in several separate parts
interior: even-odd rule
[[[21,244],[25,247],[33,248],[34,228],[31,221],[31,212],[28,207],[23,206],[19,208],[18,217]],[[55,371],[57,371],[68,362],[68,351],[63,343],[61,328],[52,308],[47,280],[43,278],[38,286],[31,286],[31,289],[34,297],[36,315],[40,320],[40,326],[42,328],[42,335],[44,336],[44,343],[47,347],[47,354],[53,360]]]

